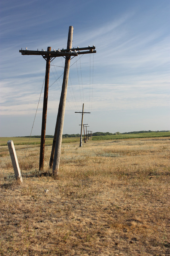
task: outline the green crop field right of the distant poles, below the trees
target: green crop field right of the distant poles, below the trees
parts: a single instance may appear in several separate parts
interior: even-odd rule
[[[154,137],[170,137],[170,132],[144,132],[132,134],[117,134],[105,136],[93,136],[92,140],[120,140],[133,138],[154,138]]]

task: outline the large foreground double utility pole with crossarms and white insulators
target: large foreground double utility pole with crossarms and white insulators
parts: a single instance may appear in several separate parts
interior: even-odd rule
[[[59,120],[59,124],[62,127],[63,125],[63,113],[65,111],[65,104],[62,103],[64,100],[66,100],[66,95],[64,93],[67,93],[67,84],[68,84],[68,74],[69,74],[69,68],[70,68],[70,58],[71,56],[75,57],[78,56],[79,54],[87,54],[87,53],[95,53],[95,46],[93,45],[92,47],[84,47],[84,48],[71,48],[72,47],[72,35],[73,35],[73,27],[69,27],[69,35],[68,35],[68,43],[67,43],[67,49],[58,49],[57,51],[54,49],[51,51],[51,47],[47,48],[47,51],[45,50],[38,50],[37,51],[29,51],[27,50],[19,50],[22,55],[41,55],[45,60],[46,60],[46,76],[45,76],[45,88],[44,88],[44,102],[43,102],[43,113],[42,113],[42,127],[41,127],[41,145],[40,145],[40,163],[39,163],[39,170],[43,170],[44,168],[44,149],[45,149],[45,132],[46,132],[46,120],[47,120],[47,101],[48,101],[48,84],[49,84],[49,70],[50,70],[50,62],[54,60],[56,57],[64,57],[65,58],[65,68],[64,68],[64,76],[63,76],[63,86],[62,86],[62,93],[61,93],[61,98],[60,98],[60,104],[59,104],[59,109],[58,109],[58,116],[57,120]],[[80,52],[83,51],[83,52]],[[65,87],[65,89],[64,89]],[[61,118],[62,116],[62,118]],[[56,122],[57,126],[57,122]],[[55,130],[57,131],[57,127],[55,127]],[[63,132],[63,128],[60,129],[60,132]],[[58,134],[58,135],[56,135]],[[52,150],[54,151],[55,148],[55,141],[56,141],[56,136],[59,136],[59,132],[55,132],[54,140],[53,140],[53,148]],[[60,147],[58,147],[58,150],[61,150]],[[51,154],[53,155],[51,164],[53,163],[54,159],[54,152]],[[60,155],[60,153],[59,153]],[[58,160],[57,160],[58,161]],[[57,164],[59,166],[59,162]],[[56,168],[56,166],[55,166]],[[58,170],[58,169],[57,169]],[[53,172],[54,174],[54,172]]]

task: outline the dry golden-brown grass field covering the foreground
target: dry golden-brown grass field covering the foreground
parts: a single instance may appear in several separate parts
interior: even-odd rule
[[[62,144],[57,179],[39,147],[16,146],[18,184],[0,147],[0,254],[170,255],[170,138]],[[45,192],[48,189],[48,193]]]

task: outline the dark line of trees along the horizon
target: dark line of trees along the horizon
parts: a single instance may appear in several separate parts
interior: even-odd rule
[[[168,131],[138,131],[138,132],[115,132],[115,133],[112,133],[112,132],[93,132],[92,133],[92,136],[105,136],[105,135],[117,135],[117,134],[137,134],[137,133],[146,133],[146,132],[170,132],[169,130]],[[20,136],[17,136],[17,137],[20,137]],[[21,136],[21,137],[24,137],[24,138],[41,138],[41,135],[33,135],[33,136]],[[54,138],[54,135],[46,135],[45,136],[46,138]],[[80,137],[80,134],[77,133],[77,134],[63,134],[63,138],[73,138],[73,137]]]

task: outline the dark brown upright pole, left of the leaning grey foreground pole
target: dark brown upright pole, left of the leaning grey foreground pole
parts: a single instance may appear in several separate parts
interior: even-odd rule
[[[51,47],[47,48],[47,51],[51,51]],[[46,120],[47,120],[47,102],[48,102],[48,84],[49,84],[49,70],[50,70],[50,55],[46,60],[46,75],[45,75],[45,88],[44,88],[44,102],[42,110],[42,126],[41,126],[41,145],[40,145],[40,163],[39,170],[44,169],[44,149],[45,149],[45,132],[46,132]]]

